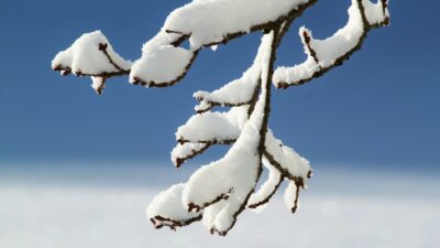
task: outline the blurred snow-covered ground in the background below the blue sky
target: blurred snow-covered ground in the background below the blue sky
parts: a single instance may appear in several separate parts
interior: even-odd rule
[[[241,215],[226,238],[210,236],[200,224],[177,231],[153,229],[145,206],[158,191],[185,181],[191,170],[123,163],[0,165],[0,247],[436,248],[440,244],[440,175],[378,169],[318,168],[297,214],[292,215],[278,195],[263,212]]]

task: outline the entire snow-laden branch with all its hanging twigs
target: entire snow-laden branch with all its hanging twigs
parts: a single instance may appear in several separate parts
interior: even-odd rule
[[[363,44],[370,30],[388,24],[388,1],[351,0],[346,25],[326,40],[299,30],[307,60],[274,68],[276,51],[292,23],[317,0],[193,0],[173,11],[161,31],[142,47],[134,62],[117,54],[99,31],[81,35],[59,52],[52,68],[62,75],[89,76],[101,94],[106,80],[128,75],[133,85],[168,87],[182,80],[199,52],[261,31],[253,64],[238,79],[213,91],[197,91],[196,114],[176,132],[172,161],[179,168],[216,144],[231,145],[227,154],[198,169],[186,183],[161,192],[146,209],[154,227],[176,229],[201,220],[224,236],[245,208],[265,205],[284,181],[284,201],[296,212],[299,192],[312,175],[309,161],[275,138],[268,128],[272,84],[300,85],[341,65]],[[189,47],[183,47],[184,42]],[[215,107],[229,107],[215,111]],[[264,170],[267,179],[258,182]]]

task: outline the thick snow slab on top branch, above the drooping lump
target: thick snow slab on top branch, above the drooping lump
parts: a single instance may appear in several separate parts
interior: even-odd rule
[[[190,35],[191,47],[215,44],[228,34],[276,21],[308,0],[195,0],[173,11],[164,30]]]

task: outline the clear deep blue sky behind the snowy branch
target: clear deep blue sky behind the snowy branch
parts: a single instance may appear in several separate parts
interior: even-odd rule
[[[186,79],[166,89],[135,87],[122,77],[108,82],[98,97],[88,79],[52,72],[51,61],[95,30],[135,60],[168,12],[185,2],[1,1],[0,163],[168,160],[174,132],[193,115],[193,93],[239,77],[260,34],[216,53],[204,51]],[[305,58],[300,25],[328,36],[344,24],[348,6],[349,0],[320,0],[293,25],[278,64]],[[391,1],[392,25],[373,31],[344,66],[307,86],[274,93],[276,136],[312,162],[440,165],[439,9],[432,0]]]

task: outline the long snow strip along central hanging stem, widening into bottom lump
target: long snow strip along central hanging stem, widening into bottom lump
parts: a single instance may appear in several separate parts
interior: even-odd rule
[[[262,43],[266,50],[262,50],[262,67],[267,67],[271,57],[271,44],[274,33],[264,35]],[[266,65],[266,66],[264,66]],[[267,69],[265,69],[267,71]],[[262,82],[267,80],[267,72],[263,71]],[[204,220],[207,227],[213,231],[224,235],[235,223],[239,214],[246,204],[248,197],[253,192],[258,180],[261,155],[258,136],[263,128],[264,109],[266,105],[265,86],[262,85],[262,94],[255,105],[249,121],[244,125],[239,139],[220,160],[201,166],[188,180],[183,193],[184,204],[204,208],[218,204],[219,200],[224,201],[224,206],[210,211],[211,222]],[[197,211],[196,208],[196,211]],[[212,214],[216,213],[213,217]]]

